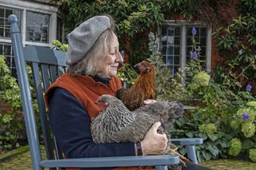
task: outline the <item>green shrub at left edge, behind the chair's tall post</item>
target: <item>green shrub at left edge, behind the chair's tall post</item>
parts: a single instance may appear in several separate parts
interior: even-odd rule
[[[5,63],[5,57],[0,56],[0,94],[1,103],[10,106],[10,110],[0,110],[0,127],[5,130],[0,133],[0,149],[10,150],[19,146],[19,141],[26,140],[25,125],[22,116],[22,101],[17,81],[10,76],[10,69]]]

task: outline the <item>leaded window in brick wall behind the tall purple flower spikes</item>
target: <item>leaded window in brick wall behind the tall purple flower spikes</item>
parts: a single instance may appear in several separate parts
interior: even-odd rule
[[[193,27],[197,30],[197,34],[194,36],[195,41],[201,48],[198,58],[203,61],[202,66],[206,71],[210,71],[210,27],[186,22],[166,22],[161,27],[160,47],[163,61],[170,69],[171,76],[178,72],[178,68],[184,69],[191,59],[190,51],[193,50],[191,30]]]

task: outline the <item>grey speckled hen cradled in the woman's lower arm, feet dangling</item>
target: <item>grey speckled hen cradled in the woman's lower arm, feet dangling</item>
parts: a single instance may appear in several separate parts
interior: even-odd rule
[[[96,144],[141,141],[154,122],[160,121],[158,115],[154,116],[153,113],[146,113],[145,111],[150,110],[149,108],[153,107],[153,104],[147,108],[131,112],[122,101],[110,95],[102,95],[96,103],[103,107],[98,117],[95,117],[90,125],[90,132]],[[154,103],[154,105],[157,104]],[[158,107],[161,108],[162,106],[158,105]],[[162,133],[163,128],[159,127],[158,132]],[[189,161],[170,147],[166,148],[165,154],[180,156],[182,164],[186,164],[183,160]],[[181,168],[181,164],[171,166],[171,169]]]

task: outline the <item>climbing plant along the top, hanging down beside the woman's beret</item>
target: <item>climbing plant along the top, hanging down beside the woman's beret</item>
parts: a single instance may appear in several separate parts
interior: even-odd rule
[[[230,7],[236,1],[227,0],[56,0],[61,2],[66,20],[66,32],[97,14],[111,14],[117,27],[120,49],[129,55],[130,64],[149,57],[147,35],[156,32],[165,19],[186,19],[213,22],[225,18],[218,9]],[[216,23],[219,22],[215,22]],[[224,23],[221,21],[221,23]]]

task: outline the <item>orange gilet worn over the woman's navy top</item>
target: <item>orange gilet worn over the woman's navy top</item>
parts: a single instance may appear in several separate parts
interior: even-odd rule
[[[70,76],[69,74],[63,74],[61,77],[50,85],[45,94],[46,107],[49,108],[50,97],[55,88],[61,87],[69,91],[78,101],[82,102],[82,105],[86,108],[86,111],[90,115],[90,119],[97,117],[102,108],[96,105],[94,102],[102,94],[116,95],[116,91],[122,88],[122,81],[118,77],[110,79],[109,87],[101,82],[95,82],[92,77],[89,76]],[[121,167],[114,168],[114,170],[152,170],[154,168],[138,168],[138,167]],[[66,168],[66,170],[79,170],[79,168]]]

